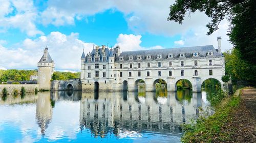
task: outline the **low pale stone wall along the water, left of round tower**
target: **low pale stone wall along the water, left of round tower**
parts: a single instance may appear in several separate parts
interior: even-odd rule
[[[14,90],[18,90],[18,93],[25,88],[26,92],[35,92],[35,89],[39,90],[38,84],[0,84],[0,95],[3,94],[3,89],[6,88],[8,94],[13,94]]]

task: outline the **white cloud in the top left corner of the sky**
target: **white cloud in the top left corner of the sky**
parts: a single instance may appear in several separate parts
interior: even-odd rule
[[[36,28],[35,21],[38,14],[33,6],[33,1],[0,0],[0,3],[0,32],[6,32],[9,28],[18,28],[28,36],[44,34]]]

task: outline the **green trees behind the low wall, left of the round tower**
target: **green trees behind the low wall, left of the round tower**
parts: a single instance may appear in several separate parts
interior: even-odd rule
[[[37,75],[37,70],[0,70],[0,81],[29,80],[30,75]]]

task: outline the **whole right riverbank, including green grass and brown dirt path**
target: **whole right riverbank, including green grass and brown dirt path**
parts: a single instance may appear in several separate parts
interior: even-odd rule
[[[185,125],[182,142],[256,142],[255,107],[256,89],[239,90],[222,100],[214,115]]]

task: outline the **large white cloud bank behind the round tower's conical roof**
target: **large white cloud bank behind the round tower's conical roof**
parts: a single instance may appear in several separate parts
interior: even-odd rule
[[[85,43],[78,39],[78,33],[65,35],[52,32],[48,36],[40,36],[34,40],[25,39],[15,44],[15,48],[0,45],[0,67],[3,69],[36,69],[42,56],[42,50],[48,43],[49,53],[55,62],[55,69],[79,71],[82,49],[89,52],[93,43]]]

